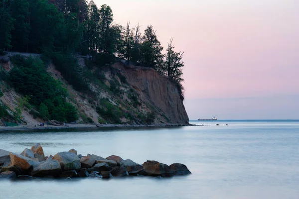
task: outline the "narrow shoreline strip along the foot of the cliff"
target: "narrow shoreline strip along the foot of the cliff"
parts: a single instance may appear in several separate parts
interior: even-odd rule
[[[136,128],[136,127],[181,127],[195,126],[192,124],[66,124],[66,126],[54,126],[45,124],[44,126],[19,125],[0,126],[1,131],[24,131],[24,130],[59,130],[59,129],[96,129],[96,128]]]

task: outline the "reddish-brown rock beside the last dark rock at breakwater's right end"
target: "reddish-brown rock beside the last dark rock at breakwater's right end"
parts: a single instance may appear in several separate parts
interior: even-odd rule
[[[147,161],[143,164],[143,168],[145,172],[148,173],[149,176],[173,176],[173,172],[170,170],[168,165],[159,163],[157,161]]]

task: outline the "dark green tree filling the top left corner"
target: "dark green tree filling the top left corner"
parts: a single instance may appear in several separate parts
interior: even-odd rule
[[[8,1],[0,0],[0,48],[10,49],[13,18],[9,12]]]

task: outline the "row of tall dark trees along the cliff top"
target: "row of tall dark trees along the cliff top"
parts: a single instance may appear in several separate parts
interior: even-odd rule
[[[152,25],[144,33],[139,24],[121,26],[109,5],[92,0],[0,0],[0,49],[49,57],[80,53],[100,65],[118,57],[155,69],[183,90],[183,52],[174,51],[173,38],[163,54]]]

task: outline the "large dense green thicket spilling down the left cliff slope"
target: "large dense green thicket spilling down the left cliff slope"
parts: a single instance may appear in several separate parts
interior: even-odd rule
[[[78,119],[76,108],[65,100],[66,89],[45,71],[45,66],[39,58],[24,58],[15,56],[9,79],[15,90],[25,96],[26,101],[39,106],[40,115],[58,121],[75,121]],[[44,104],[44,105],[43,105]],[[20,105],[23,107],[24,104]],[[20,109],[20,108],[18,108]],[[48,114],[47,111],[48,110]],[[15,111],[19,117],[19,110]]]

